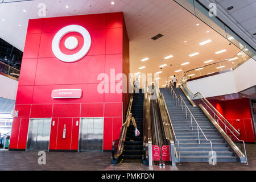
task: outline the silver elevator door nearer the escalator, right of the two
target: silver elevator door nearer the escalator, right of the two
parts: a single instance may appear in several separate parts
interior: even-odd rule
[[[103,151],[104,118],[81,118],[79,151]]]

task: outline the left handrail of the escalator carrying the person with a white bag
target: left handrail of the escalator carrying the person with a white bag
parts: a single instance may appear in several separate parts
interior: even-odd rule
[[[133,82],[133,92],[130,94],[130,98],[129,98],[129,104],[126,110],[126,115],[125,115],[125,119],[127,119],[129,117],[129,114],[131,112],[131,106],[133,105],[133,96],[134,96],[134,90],[135,90],[135,85]],[[122,130],[119,136],[119,143],[118,143],[118,150],[117,152],[115,152],[115,142],[117,142],[117,140],[114,140],[112,143],[112,159],[116,160],[116,156],[120,156],[123,152],[123,147],[125,145],[125,138],[126,138],[126,131],[127,131],[127,125],[122,126]]]

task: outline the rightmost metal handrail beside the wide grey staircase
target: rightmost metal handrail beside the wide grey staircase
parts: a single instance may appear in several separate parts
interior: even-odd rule
[[[237,136],[229,129],[229,127],[226,126],[226,123],[228,123],[228,125],[233,129],[233,131],[234,131],[238,136],[241,136],[241,134],[228,122],[228,120],[226,120],[226,118],[224,118],[224,117],[218,112],[218,110],[217,110],[215,107],[213,107],[212,104],[210,104],[210,102],[207,100],[207,98],[205,98],[205,97],[203,96],[203,94],[201,94],[200,92],[197,92],[196,94],[193,94],[192,91],[187,87],[187,85],[184,84],[184,82],[183,82],[181,79],[180,79],[180,82],[181,82],[181,85],[182,85],[183,87],[185,87],[185,88],[193,95],[193,98],[196,97],[198,94],[200,94],[200,96],[203,97],[203,99],[202,99],[202,98],[200,98],[200,99],[201,99],[201,100],[204,102],[204,104],[213,112],[213,114],[214,114],[214,121],[216,122],[216,118],[215,118],[215,116],[216,116],[218,119],[220,119],[220,121],[222,122],[222,124],[225,125],[225,129],[228,128],[228,130],[230,131],[230,133],[232,133],[232,134],[234,135],[234,137],[235,137],[238,141],[240,141],[240,142],[243,143],[243,149],[245,150],[245,155],[243,155],[240,150],[237,150],[237,152],[239,152],[241,155],[245,156],[246,164],[248,164],[247,154],[246,154],[246,148],[245,148],[245,141],[244,141],[244,140],[241,140],[241,139],[238,139]],[[212,110],[212,109],[213,109],[213,110]],[[214,113],[214,111],[215,111],[215,113]],[[216,114],[216,113],[217,113],[217,114]],[[220,117],[221,117],[222,119],[224,119],[224,122],[221,120],[220,117],[218,117],[218,115],[220,115]],[[218,124],[218,126],[220,126],[219,123],[218,123],[218,119],[217,119],[217,122],[216,122],[216,123]],[[226,131],[225,131],[225,134],[226,134]],[[227,135],[227,134],[226,134],[226,135]],[[231,139],[230,139],[230,140],[231,140]],[[231,141],[232,141],[232,140],[231,140]]]

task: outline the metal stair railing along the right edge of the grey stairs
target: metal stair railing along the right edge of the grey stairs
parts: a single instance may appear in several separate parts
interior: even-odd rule
[[[224,118],[224,117],[220,114],[220,112],[218,112],[218,110],[217,110],[212,104],[210,104],[210,102],[207,100],[207,98],[205,98],[205,97],[203,96],[203,94],[201,94],[200,92],[197,92],[196,94],[193,94],[192,91],[187,87],[187,85],[184,84],[184,82],[183,82],[181,79],[180,79],[180,83],[181,83],[181,85],[183,86],[183,88],[185,88],[185,89],[187,90],[187,92],[190,92],[190,94],[192,95],[193,98],[195,98],[196,96],[199,96],[199,95],[201,96],[201,97],[199,97],[199,99],[204,102],[205,106],[207,106],[207,107],[210,109],[210,111],[212,111],[213,117],[214,117],[214,121],[215,121],[219,126],[220,126],[219,121],[221,121],[221,123],[225,126],[225,134],[227,133],[226,129],[228,129],[228,130],[230,131],[230,133],[232,133],[232,135],[233,135],[239,142],[242,142],[242,143],[243,143],[243,150],[245,150],[244,156],[245,156],[245,159],[246,159],[246,164],[248,164],[247,154],[246,154],[246,148],[245,148],[245,141],[244,141],[244,140],[241,140],[241,139],[239,139],[239,138],[237,137],[237,135],[238,135],[238,136],[241,136],[241,134],[228,122],[228,120],[226,120],[226,118]],[[206,110],[207,110],[207,109],[206,109]],[[217,117],[217,121],[216,121],[216,117]],[[226,125],[226,123],[228,123],[229,127]],[[221,127],[221,126],[220,126],[220,127]],[[230,128],[231,128],[233,131],[232,131]],[[223,130],[223,131],[224,131],[224,130]],[[234,134],[234,133],[236,133],[236,134]],[[226,134],[226,135],[228,135],[228,134]],[[236,147],[236,149],[238,149],[238,148]],[[240,155],[243,156],[242,152],[241,152],[239,149],[238,149],[237,152],[239,152]]]

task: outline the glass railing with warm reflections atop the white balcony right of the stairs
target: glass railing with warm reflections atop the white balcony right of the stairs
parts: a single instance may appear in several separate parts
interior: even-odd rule
[[[237,53],[236,56],[230,57],[229,59],[225,59],[217,63],[209,64],[204,67],[199,67],[185,72],[183,76],[183,81],[187,81],[189,79],[201,76],[214,75],[214,73],[220,73],[222,71],[233,71],[250,58],[251,57],[246,55],[245,52],[240,51]]]

